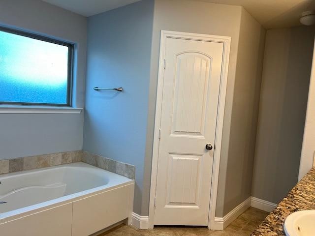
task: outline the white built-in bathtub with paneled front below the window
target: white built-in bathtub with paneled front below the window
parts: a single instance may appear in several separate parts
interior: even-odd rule
[[[1,236],[88,236],[131,219],[134,180],[82,162],[0,182]]]

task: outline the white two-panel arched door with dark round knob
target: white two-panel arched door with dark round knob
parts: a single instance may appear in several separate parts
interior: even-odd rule
[[[154,224],[206,226],[223,43],[167,38],[165,47]]]

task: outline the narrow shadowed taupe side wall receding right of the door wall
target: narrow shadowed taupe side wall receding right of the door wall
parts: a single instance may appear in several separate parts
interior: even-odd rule
[[[252,193],[265,33],[266,30],[242,8],[225,187],[221,185],[219,192],[225,191],[221,216]]]

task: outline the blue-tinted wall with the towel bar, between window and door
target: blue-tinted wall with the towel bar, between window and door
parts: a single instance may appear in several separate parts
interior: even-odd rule
[[[141,214],[154,0],[88,18],[83,149],[136,166]],[[123,87],[123,92],[93,87]]]

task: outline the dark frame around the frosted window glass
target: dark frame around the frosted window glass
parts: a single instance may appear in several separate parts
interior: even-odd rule
[[[66,103],[59,104],[59,103],[34,103],[34,102],[7,102],[1,101],[0,105],[27,105],[27,106],[57,106],[57,107],[71,107],[72,106],[72,86],[73,86],[73,51],[74,51],[74,44],[67,43],[58,39],[53,39],[50,37],[38,35],[35,33],[30,33],[22,30],[17,29],[10,29],[6,27],[0,26],[0,31],[13,33],[16,35],[21,35],[37,40],[41,40],[48,43],[54,43],[62,46],[68,47],[68,73],[67,73],[67,92],[66,92]]]

